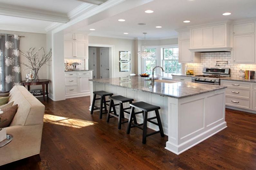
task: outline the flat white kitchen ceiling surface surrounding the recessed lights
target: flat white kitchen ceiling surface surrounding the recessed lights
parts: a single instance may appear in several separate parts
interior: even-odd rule
[[[138,6],[111,18],[101,20],[81,28],[81,31],[91,31],[90,35],[116,36],[126,38],[143,38],[142,32],[147,32],[147,38],[166,38],[177,36],[175,29],[200,23],[236,20],[256,16],[256,0],[154,0]],[[145,10],[154,13],[144,13]],[[222,13],[232,15],[223,16]],[[125,22],[118,22],[125,19]],[[190,20],[190,23],[183,23]],[[137,23],[147,25],[137,25]],[[162,26],[163,28],[155,28]],[[128,32],[128,35],[124,35]]]

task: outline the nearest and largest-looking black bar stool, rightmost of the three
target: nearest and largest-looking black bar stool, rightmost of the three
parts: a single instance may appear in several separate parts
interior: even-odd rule
[[[130,133],[130,130],[133,127],[137,127],[139,129],[142,129],[143,130],[143,137],[142,137],[142,143],[143,144],[146,144],[146,140],[147,140],[146,138],[150,135],[160,133],[161,137],[164,137],[164,130],[163,130],[161,119],[160,119],[159,112],[158,112],[158,110],[160,109],[159,106],[155,106],[155,105],[148,104],[148,103],[145,103],[145,102],[131,103],[130,106],[131,106],[131,113],[130,113],[129,122],[128,122],[127,134]],[[141,123],[141,124],[132,123],[134,116],[138,113],[141,113],[141,112],[134,112],[135,108],[142,110],[143,123]],[[152,117],[152,118],[147,118],[147,112],[151,112],[151,111],[155,111],[156,116]],[[157,123],[154,122],[154,121],[151,121],[153,119],[156,119]],[[156,132],[147,134],[147,122],[150,122],[150,123],[153,123],[153,124],[157,125],[159,127],[159,130],[156,131]],[[133,126],[131,126],[131,125],[133,125]],[[143,125],[143,127],[141,127],[142,125]]]

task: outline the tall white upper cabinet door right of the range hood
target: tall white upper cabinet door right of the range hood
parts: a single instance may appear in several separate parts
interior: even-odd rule
[[[255,62],[255,35],[243,34],[233,36],[233,61],[235,63]]]

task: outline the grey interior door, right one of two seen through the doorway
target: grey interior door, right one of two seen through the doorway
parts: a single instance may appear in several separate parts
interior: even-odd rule
[[[100,48],[100,78],[109,78],[109,48]]]

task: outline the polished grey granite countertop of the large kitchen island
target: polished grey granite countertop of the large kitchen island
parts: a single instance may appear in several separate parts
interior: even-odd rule
[[[89,81],[129,88],[137,91],[149,92],[152,94],[159,94],[162,96],[173,98],[184,98],[226,88],[225,86],[221,85],[208,85],[192,82],[161,83],[156,81],[154,87],[152,87],[150,85],[151,81],[145,81],[145,79],[148,79],[148,77],[145,78],[131,76],[119,78],[91,79]]]

